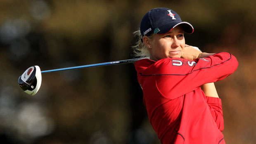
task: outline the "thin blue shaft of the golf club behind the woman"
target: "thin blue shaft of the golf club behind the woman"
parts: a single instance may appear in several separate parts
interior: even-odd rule
[[[68,68],[58,68],[58,69],[52,69],[47,71],[41,71],[41,73],[50,73],[54,71],[66,71],[66,70],[79,69],[79,68],[90,68],[90,67],[96,67],[96,66],[108,66],[108,65],[115,65],[115,64],[127,64],[127,63],[134,63],[135,61],[140,59],[149,59],[149,57],[137,58],[137,59],[126,59],[121,61],[111,61],[111,62],[104,62],[99,64],[88,64],[83,66],[73,66]]]

